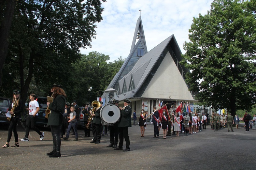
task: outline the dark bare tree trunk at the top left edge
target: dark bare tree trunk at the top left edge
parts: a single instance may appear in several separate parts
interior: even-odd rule
[[[3,4],[4,2],[2,2]],[[9,33],[12,26],[12,18],[15,9],[15,0],[6,0],[6,8],[3,14],[3,20],[0,22],[0,86],[3,83],[3,65],[7,56],[9,47]]]

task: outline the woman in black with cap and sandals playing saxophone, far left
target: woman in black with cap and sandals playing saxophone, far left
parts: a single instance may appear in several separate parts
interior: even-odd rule
[[[13,100],[12,103],[10,104],[8,111],[11,113],[11,123],[8,128],[8,137],[6,143],[2,146],[2,148],[8,148],[9,143],[12,137],[12,131],[14,134],[15,138],[15,144],[12,145],[11,147],[19,147],[19,142],[18,142],[18,133],[17,133],[17,123],[20,118],[20,113],[23,112],[23,102],[20,99],[20,91],[19,90],[14,90],[13,91]]]

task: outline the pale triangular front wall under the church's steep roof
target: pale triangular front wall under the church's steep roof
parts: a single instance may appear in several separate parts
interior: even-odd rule
[[[169,52],[167,52],[142,97],[181,101],[194,100]]]

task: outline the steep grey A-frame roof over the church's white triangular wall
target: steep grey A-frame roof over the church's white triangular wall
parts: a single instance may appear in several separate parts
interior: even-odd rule
[[[185,81],[185,74],[189,72],[189,69],[185,68],[179,63],[182,60],[181,50],[177,45],[174,35],[171,35],[166,40],[157,45],[155,48],[146,53],[144,56],[142,56],[133,67],[132,71],[129,72],[122,79],[120,79],[119,85],[122,89],[122,82],[126,81],[127,78],[129,79],[132,75],[135,88],[117,95],[117,99],[119,101],[122,101],[125,98],[140,98],[143,92],[146,90],[147,85],[150,83],[154,74],[156,73],[161,62],[165,58],[167,52],[171,54],[173,61],[177,66],[177,69],[179,70],[181,76],[183,77],[183,80]],[[129,86],[129,84],[126,84],[126,86]],[[187,85],[187,87],[189,86]]]

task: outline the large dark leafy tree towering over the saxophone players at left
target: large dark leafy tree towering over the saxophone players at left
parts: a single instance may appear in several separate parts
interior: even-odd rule
[[[65,82],[69,66],[81,57],[79,49],[90,47],[95,38],[95,22],[102,20],[101,2],[105,0],[17,1],[4,69],[11,71],[5,75],[12,80],[20,79],[23,99],[32,78],[45,89]],[[1,91],[12,82],[4,83]]]

